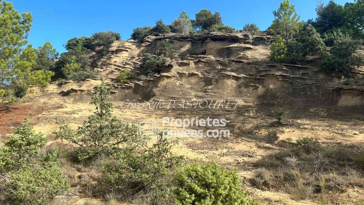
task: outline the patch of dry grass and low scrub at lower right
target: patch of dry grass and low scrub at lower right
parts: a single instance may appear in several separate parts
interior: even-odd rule
[[[363,188],[360,154],[336,145],[323,145],[316,138],[297,139],[255,164],[252,183],[260,189],[292,194],[296,200],[336,203],[337,186]]]

